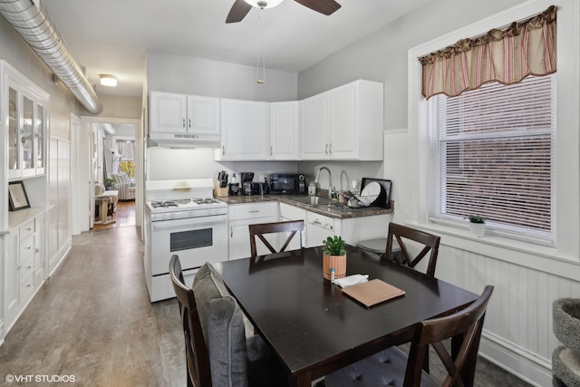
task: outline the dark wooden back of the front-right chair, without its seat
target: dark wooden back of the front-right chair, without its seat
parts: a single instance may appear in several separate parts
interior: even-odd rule
[[[492,292],[493,286],[487,285],[478,299],[468,307],[417,325],[409,350],[405,387],[420,386],[421,367],[429,356],[430,345],[448,372],[443,386],[473,386],[479,339]],[[441,343],[449,338],[452,338],[451,354]]]

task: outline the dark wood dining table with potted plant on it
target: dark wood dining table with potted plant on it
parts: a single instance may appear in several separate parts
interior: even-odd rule
[[[323,249],[310,247],[213,264],[256,333],[284,364],[289,385],[411,341],[422,320],[451,314],[478,295],[347,246],[347,276],[369,275],[405,295],[366,307],[323,276]],[[441,257],[440,257],[441,258]]]

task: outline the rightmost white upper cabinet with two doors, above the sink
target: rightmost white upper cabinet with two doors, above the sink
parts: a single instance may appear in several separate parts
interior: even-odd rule
[[[301,104],[302,160],[382,160],[382,83],[355,81]]]

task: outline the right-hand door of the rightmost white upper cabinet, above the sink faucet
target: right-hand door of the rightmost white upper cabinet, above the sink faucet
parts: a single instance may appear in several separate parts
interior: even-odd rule
[[[359,101],[359,82],[349,83],[330,92],[329,154],[331,159],[360,159]]]

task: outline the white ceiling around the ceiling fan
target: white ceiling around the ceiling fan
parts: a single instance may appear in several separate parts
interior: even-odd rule
[[[430,0],[337,1],[342,7],[329,16],[285,0],[263,11],[253,8],[237,24],[225,23],[234,0],[43,0],[43,5],[91,83],[100,73],[117,76],[117,87],[97,86],[97,93],[140,97],[148,49],[256,65],[263,44],[266,68],[299,73]]]

